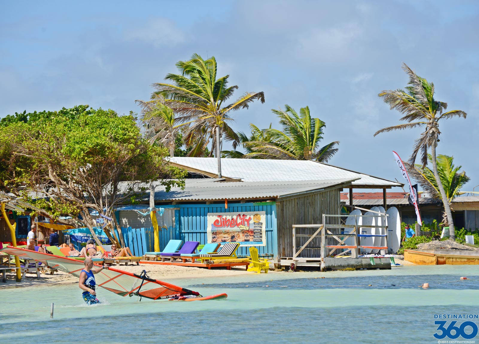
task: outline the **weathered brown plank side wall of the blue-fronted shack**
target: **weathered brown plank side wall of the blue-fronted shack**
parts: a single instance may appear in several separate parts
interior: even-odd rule
[[[323,214],[339,214],[340,191],[341,189],[333,189],[276,201],[279,257],[293,256],[293,225],[321,224]],[[304,229],[301,234],[308,234],[308,231],[312,234],[316,229]],[[307,240],[308,238],[298,238],[296,245]],[[319,239],[311,241],[309,246],[319,247]],[[307,256],[308,251],[313,250],[306,250],[305,255],[301,254],[301,256]],[[319,252],[319,250],[315,251]]]

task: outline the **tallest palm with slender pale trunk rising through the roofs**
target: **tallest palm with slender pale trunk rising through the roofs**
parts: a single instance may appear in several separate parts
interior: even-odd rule
[[[181,74],[167,74],[168,83],[155,83],[152,98],[160,97],[169,106],[180,123],[190,125],[186,140],[194,138],[202,145],[213,139],[211,154],[216,149],[218,159],[218,178],[221,177],[220,150],[221,140],[225,137],[236,149],[239,137],[229,126],[233,121],[230,112],[248,108],[255,100],[264,103],[264,92],[246,92],[233,103],[225,102],[233,95],[238,86],[228,87],[226,75],[217,79],[217,62],[215,57],[204,60],[194,54],[188,61],[179,61],[176,67]]]

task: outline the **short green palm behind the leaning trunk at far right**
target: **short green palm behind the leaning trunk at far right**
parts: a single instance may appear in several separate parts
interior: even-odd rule
[[[470,180],[466,172],[459,172],[462,166],[454,166],[453,160],[453,157],[443,154],[439,154],[436,157],[437,172],[449,205],[452,200],[459,195],[461,187]],[[433,161],[431,154],[428,154],[428,161]],[[427,191],[434,198],[441,198],[441,192],[434,177],[434,172],[429,167],[422,167],[422,165],[419,164],[414,165],[414,167],[409,164],[406,166],[409,174],[421,185],[423,190]],[[447,215],[445,212],[443,218],[445,219],[444,222],[447,223]]]

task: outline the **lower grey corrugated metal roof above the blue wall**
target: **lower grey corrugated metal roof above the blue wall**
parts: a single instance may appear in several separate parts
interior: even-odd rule
[[[187,179],[186,187],[171,188],[155,192],[156,201],[207,201],[227,199],[279,198],[297,193],[321,190],[335,185],[350,184],[352,179],[320,181],[277,181],[277,182],[222,182],[211,178]],[[160,186],[159,186],[160,187]],[[148,200],[149,195],[144,198]]]

